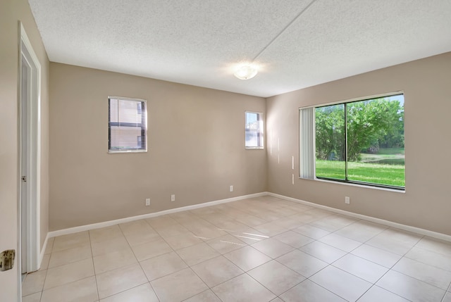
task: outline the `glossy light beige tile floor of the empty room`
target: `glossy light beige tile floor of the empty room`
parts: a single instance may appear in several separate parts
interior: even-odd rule
[[[49,240],[24,302],[451,302],[451,242],[271,196]]]

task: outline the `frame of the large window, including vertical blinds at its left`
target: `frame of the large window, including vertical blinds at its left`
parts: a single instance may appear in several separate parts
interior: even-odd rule
[[[349,99],[349,100],[345,100],[345,101],[335,101],[335,102],[330,102],[330,103],[322,103],[319,105],[314,105],[314,106],[305,106],[305,107],[299,107],[299,178],[303,179],[303,180],[319,180],[319,181],[323,181],[323,182],[330,182],[330,183],[340,183],[340,184],[350,184],[350,185],[354,185],[354,186],[358,186],[358,187],[369,187],[369,188],[373,188],[373,189],[386,189],[386,190],[390,190],[390,191],[398,191],[398,192],[405,192],[406,190],[406,185],[404,183],[404,187],[400,187],[400,186],[391,186],[388,184],[376,184],[376,183],[371,183],[371,182],[361,182],[358,180],[339,180],[339,179],[334,179],[334,178],[328,178],[328,177],[317,177],[316,176],[316,122],[315,122],[315,109],[316,108],[321,108],[321,107],[326,107],[326,106],[334,106],[334,105],[340,105],[343,104],[345,109],[345,128],[346,128],[346,134],[345,134],[345,175],[347,175],[347,170],[348,170],[348,160],[347,160],[347,104],[348,103],[354,103],[354,102],[358,102],[358,101],[369,101],[372,99],[381,99],[384,97],[390,97],[390,96],[397,96],[402,94],[403,96],[405,95],[403,91],[397,91],[397,92],[389,92],[389,93],[385,93],[385,94],[376,94],[374,96],[364,96],[361,98],[355,98],[355,99]],[[312,130],[312,137],[309,137],[309,139],[313,139],[313,141],[311,142],[311,150],[309,150],[309,152],[313,153],[313,159],[310,163],[313,166],[313,175],[309,175],[309,172],[311,171],[311,167],[310,170],[308,170],[309,168],[303,168],[302,163],[305,162],[302,158],[302,150],[303,150],[303,146],[302,146],[302,110],[303,109],[307,109],[307,108],[313,108],[313,120],[312,123],[313,125],[311,125],[311,130]],[[405,123],[405,120],[404,120]],[[405,124],[404,124],[405,125]],[[308,139],[308,138],[307,138]],[[305,138],[304,138],[305,141]],[[308,160],[307,160],[308,161]],[[303,170],[304,169],[304,170]],[[307,172],[306,172],[307,171]],[[307,176],[302,176],[302,175],[306,175]],[[404,164],[404,182],[405,182],[405,164]]]

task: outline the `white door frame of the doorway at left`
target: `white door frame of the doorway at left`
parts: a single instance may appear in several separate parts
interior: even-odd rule
[[[38,270],[40,263],[40,196],[41,196],[41,65],[28,39],[25,29],[20,23],[19,29],[19,248],[18,267],[21,268],[22,211],[27,212],[26,221],[26,263],[27,272]],[[22,116],[22,60],[30,66],[27,84],[27,116]],[[22,119],[27,119],[27,146],[22,144]],[[22,148],[27,148],[27,196],[26,208],[22,207]],[[20,278],[20,273],[19,273]]]

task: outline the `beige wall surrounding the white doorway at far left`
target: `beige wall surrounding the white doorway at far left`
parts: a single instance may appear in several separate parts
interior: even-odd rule
[[[0,1],[0,251],[18,250],[18,64],[22,21],[42,66],[41,243],[48,231],[49,61],[26,0]],[[0,301],[18,298],[18,258],[0,272]]]

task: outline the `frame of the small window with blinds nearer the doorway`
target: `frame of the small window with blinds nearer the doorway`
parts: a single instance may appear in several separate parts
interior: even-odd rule
[[[118,101],[133,101],[140,103],[142,114],[140,123],[130,123],[130,122],[111,122],[111,99],[115,99]],[[138,109],[137,109],[138,110]],[[136,128],[139,125],[141,128],[141,147],[140,148],[127,148],[127,149],[111,149],[111,127],[132,127]],[[147,100],[144,99],[132,99],[122,96],[108,96],[108,153],[145,153],[147,152]]]

